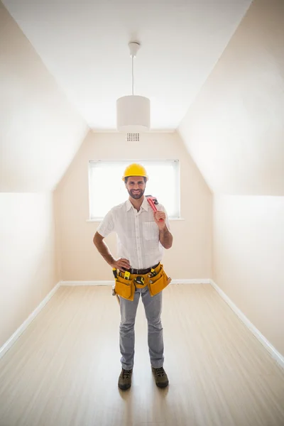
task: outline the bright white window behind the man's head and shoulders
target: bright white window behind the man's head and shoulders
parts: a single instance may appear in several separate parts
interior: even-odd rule
[[[180,217],[180,167],[178,160],[89,161],[89,218],[102,219],[129,197],[122,176],[131,163],[143,165],[149,180],[145,195],[157,197],[169,218]]]

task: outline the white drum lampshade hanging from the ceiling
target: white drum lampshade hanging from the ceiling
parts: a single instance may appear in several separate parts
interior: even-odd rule
[[[133,94],[117,99],[116,128],[126,133],[150,130],[150,99]]]

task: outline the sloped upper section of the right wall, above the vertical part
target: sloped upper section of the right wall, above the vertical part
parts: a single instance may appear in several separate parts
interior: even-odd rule
[[[284,195],[284,1],[256,0],[178,131],[214,192]]]

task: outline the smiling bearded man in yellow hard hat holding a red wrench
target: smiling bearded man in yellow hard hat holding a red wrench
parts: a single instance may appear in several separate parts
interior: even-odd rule
[[[94,245],[105,261],[114,269],[116,294],[119,294],[121,324],[120,350],[121,374],[119,388],[131,387],[134,362],[134,324],[139,297],[148,321],[148,349],[155,383],[160,388],[168,386],[168,376],[163,369],[163,327],[160,320],[162,291],[169,283],[160,261],[163,248],[170,249],[173,236],[164,207],[158,204],[153,212],[144,192],[148,176],[142,165],[129,165],[123,176],[129,200],[113,207],[104,217],[94,234]],[[104,238],[116,231],[118,255],[115,260]],[[150,277],[150,278],[149,278]],[[132,291],[132,290],[133,291]]]

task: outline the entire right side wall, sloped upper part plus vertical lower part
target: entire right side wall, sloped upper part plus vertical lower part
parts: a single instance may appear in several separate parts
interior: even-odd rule
[[[214,280],[281,354],[283,23],[253,1],[178,129],[214,192]]]

